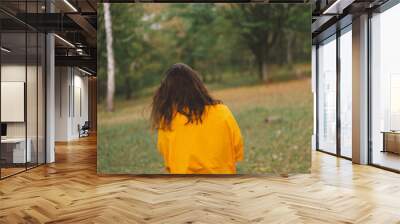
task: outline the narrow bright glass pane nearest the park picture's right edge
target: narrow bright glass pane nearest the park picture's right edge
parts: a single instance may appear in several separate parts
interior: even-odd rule
[[[318,149],[336,154],[336,35],[318,47]]]

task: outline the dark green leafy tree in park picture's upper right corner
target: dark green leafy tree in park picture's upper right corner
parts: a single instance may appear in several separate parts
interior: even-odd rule
[[[305,5],[236,4],[225,13],[255,56],[260,77],[264,64],[291,64],[296,53],[298,61],[305,60],[311,53],[308,36],[311,12]],[[308,45],[302,46],[304,42]]]

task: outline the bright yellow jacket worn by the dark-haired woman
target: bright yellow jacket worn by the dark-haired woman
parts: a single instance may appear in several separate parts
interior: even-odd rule
[[[157,148],[173,174],[234,174],[243,159],[243,139],[229,108],[206,106],[202,123],[186,124],[178,113],[171,130],[158,130]]]

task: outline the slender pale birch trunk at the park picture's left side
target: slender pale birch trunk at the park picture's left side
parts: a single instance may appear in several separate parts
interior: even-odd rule
[[[112,47],[112,21],[110,13],[110,4],[104,4],[104,22],[106,30],[107,43],[107,111],[114,111],[114,92],[115,92],[115,67],[114,52]]]

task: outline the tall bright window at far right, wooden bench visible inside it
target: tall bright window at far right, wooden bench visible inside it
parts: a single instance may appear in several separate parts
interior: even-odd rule
[[[371,18],[371,162],[400,170],[400,5]]]

